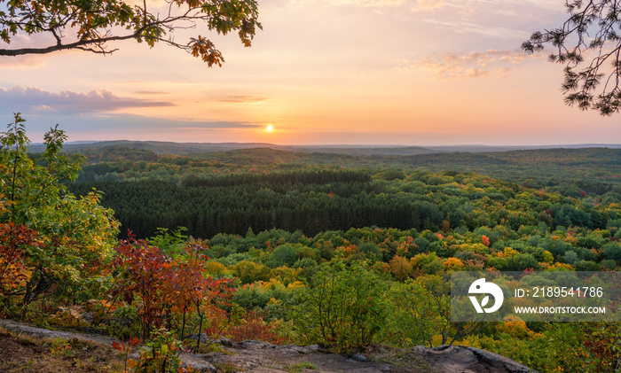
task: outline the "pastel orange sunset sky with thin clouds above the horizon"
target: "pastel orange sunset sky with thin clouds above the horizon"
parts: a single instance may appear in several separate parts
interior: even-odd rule
[[[563,66],[520,51],[533,31],[562,24],[564,0],[258,4],[263,31],[250,48],[193,31],[216,44],[222,67],[133,41],[106,56],[0,57],[0,126],[20,112],[34,143],[59,123],[69,141],[621,144],[621,114],[564,105]]]

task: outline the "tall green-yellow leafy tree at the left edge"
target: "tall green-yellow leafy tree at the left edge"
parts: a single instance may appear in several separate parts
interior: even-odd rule
[[[75,180],[82,157],[61,152],[67,136],[58,126],[45,134],[39,163],[28,157],[25,120],[17,113],[0,136],[0,223],[36,231],[37,245],[25,245],[23,264],[32,271],[20,285],[26,306],[52,293],[83,301],[103,290],[100,273],[110,260],[117,232],[112,211],[98,205],[94,191],[75,198],[64,183]],[[58,299],[57,299],[58,300]]]

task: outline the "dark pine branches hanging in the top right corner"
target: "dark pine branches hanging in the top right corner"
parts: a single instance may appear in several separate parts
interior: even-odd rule
[[[537,31],[522,44],[528,54],[546,44],[557,50],[548,60],[565,64],[565,104],[607,116],[621,107],[621,1],[567,0],[570,17],[562,27]]]

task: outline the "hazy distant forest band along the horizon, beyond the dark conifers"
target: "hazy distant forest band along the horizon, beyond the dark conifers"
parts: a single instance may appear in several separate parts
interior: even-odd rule
[[[187,177],[331,169],[387,169],[410,171],[475,172],[528,188],[556,191],[567,197],[602,196],[614,191],[620,198],[621,150],[606,148],[544,149],[513,152],[434,153],[409,156],[285,152],[267,148],[189,155],[110,146],[83,149],[88,164],[78,182],[170,180]]]

